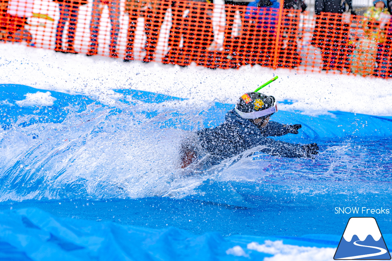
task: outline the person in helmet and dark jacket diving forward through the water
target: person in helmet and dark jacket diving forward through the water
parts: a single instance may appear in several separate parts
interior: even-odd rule
[[[248,92],[240,97],[235,109],[227,112],[225,122],[215,128],[199,130],[185,140],[180,149],[181,168],[209,156],[211,165],[239,155],[257,146],[266,146],[260,151],[279,157],[314,158],[319,147],[316,143],[300,145],[276,141],[270,136],[298,134],[301,124],[283,125],[270,121],[278,112],[276,100],[259,92]]]

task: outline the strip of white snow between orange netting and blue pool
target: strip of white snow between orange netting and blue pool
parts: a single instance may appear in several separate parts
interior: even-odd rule
[[[392,116],[390,81],[341,74],[299,73],[295,70],[256,65],[240,69],[216,69],[191,65],[87,57],[34,49],[23,44],[0,44],[0,83],[24,84],[40,89],[83,93],[110,103],[118,94],[113,89],[137,89],[189,98],[197,103],[220,101],[236,103],[244,92],[253,91],[274,75],[279,80],[263,92],[278,101],[280,110],[302,111],[309,115],[346,111],[378,116]]]

